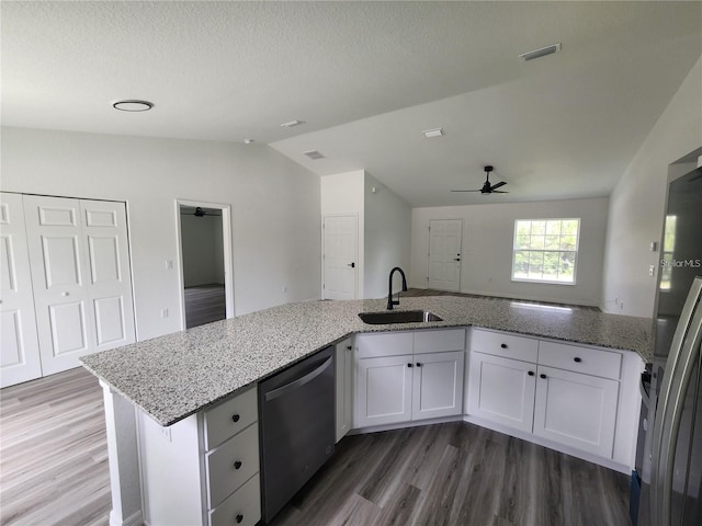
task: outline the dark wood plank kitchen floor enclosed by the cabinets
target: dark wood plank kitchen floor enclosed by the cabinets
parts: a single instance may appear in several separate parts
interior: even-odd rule
[[[629,478],[465,422],[348,436],[293,525],[626,526]]]

